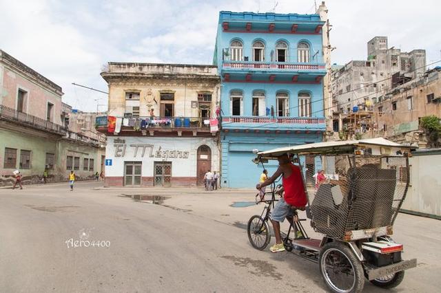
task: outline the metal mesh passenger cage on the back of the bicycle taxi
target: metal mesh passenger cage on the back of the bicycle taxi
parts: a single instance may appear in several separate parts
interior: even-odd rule
[[[309,193],[314,228],[345,232],[392,226],[408,187],[407,158],[322,156],[327,180]]]

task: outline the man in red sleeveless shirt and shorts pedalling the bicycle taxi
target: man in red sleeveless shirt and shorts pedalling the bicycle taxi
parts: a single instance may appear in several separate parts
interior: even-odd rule
[[[280,192],[285,191],[285,194],[283,198],[277,202],[270,217],[274,228],[274,235],[276,236],[276,244],[269,248],[271,252],[281,252],[285,250],[282,237],[280,236],[280,222],[283,222],[285,218],[287,218],[288,221],[292,221],[294,210],[296,208],[304,208],[307,204],[305,186],[300,168],[291,163],[288,155],[280,155],[277,160],[279,166],[276,173],[265,182],[256,185],[256,188],[260,189],[273,183],[280,175],[283,175],[283,188]]]

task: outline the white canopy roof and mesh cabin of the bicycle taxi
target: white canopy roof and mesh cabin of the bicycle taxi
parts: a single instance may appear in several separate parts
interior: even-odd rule
[[[414,148],[372,138],[271,149],[258,152],[255,160],[287,154],[296,155],[300,164],[299,156],[313,157],[327,180],[314,191],[314,181],[304,179],[311,225],[328,237],[352,241],[392,233],[409,187],[409,157]]]

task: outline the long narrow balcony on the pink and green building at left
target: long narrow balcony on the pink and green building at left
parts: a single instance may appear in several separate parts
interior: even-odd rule
[[[39,129],[43,131],[49,131],[59,135],[66,134],[66,129],[65,127],[63,127],[63,125],[55,124],[48,120],[38,118],[28,113],[23,113],[21,111],[17,111],[16,109],[12,109],[3,105],[0,105],[0,120],[6,120],[15,123],[18,122],[18,124],[22,124],[23,126],[32,127],[34,129]]]

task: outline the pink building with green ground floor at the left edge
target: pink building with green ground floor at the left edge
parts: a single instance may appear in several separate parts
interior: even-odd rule
[[[78,180],[103,171],[103,142],[72,132],[72,107],[63,91],[16,58],[0,50],[0,186],[12,185],[19,169],[24,184]],[[82,131],[82,129],[80,129]]]

